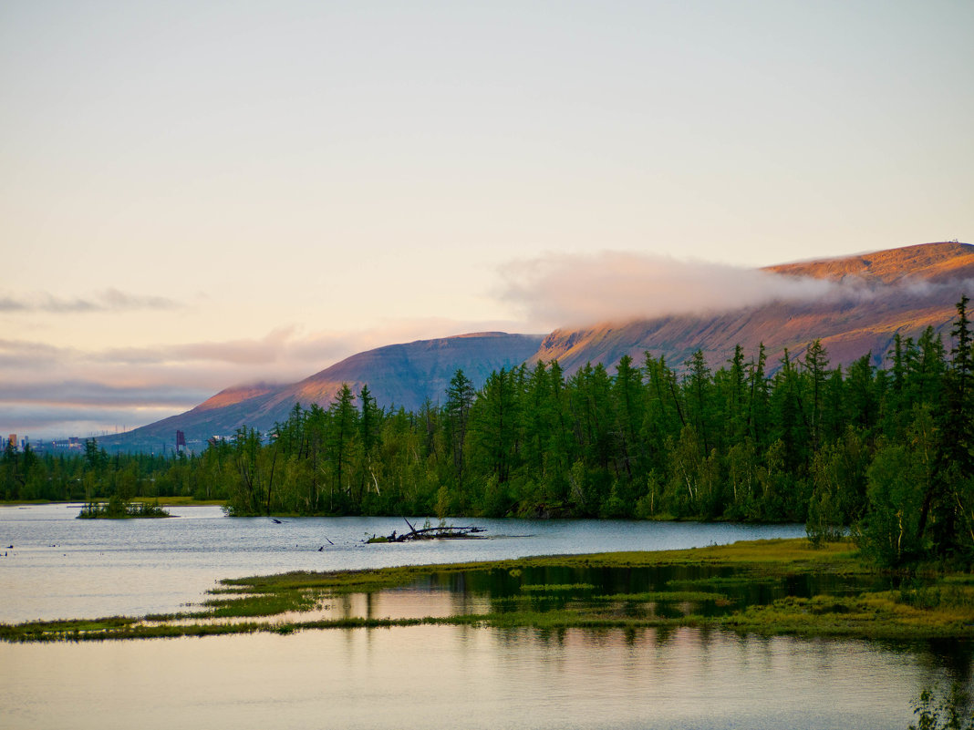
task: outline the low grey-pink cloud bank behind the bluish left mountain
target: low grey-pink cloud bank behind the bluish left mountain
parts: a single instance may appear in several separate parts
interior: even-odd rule
[[[0,432],[34,440],[132,428],[182,413],[226,387],[293,383],[373,347],[488,329],[510,322],[394,320],[359,332],[80,349],[0,339]]]

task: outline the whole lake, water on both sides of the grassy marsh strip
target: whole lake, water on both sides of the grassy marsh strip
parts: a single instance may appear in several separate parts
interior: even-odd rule
[[[80,521],[79,509],[0,508],[0,620],[174,611],[199,602],[218,578],[292,569],[804,534],[800,526],[477,520],[489,539],[364,545],[405,524],[278,525],[209,507],[173,508],[179,518],[169,520]],[[433,615],[449,610],[452,595],[441,586],[391,592],[368,610]],[[906,728],[921,687],[970,683],[971,654],[964,642],[454,626],[0,644],[0,726]]]

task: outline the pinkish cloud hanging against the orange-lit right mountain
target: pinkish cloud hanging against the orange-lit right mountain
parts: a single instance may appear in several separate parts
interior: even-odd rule
[[[515,261],[501,275],[501,298],[546,328],[872,296],[860,279],[837,282],[613,251]]]

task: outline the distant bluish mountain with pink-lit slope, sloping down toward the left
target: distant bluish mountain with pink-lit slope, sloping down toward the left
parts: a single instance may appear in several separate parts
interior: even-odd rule
[[[420,340],[359,352],[300,383],[257,383],[221,390],[196,408],[169,419],[106,436],[98,443],[109,450],[172,449],[176,430],[189,442],[231,435],[246,424],[267,431],[285,420],[295,403],[327,407],[342,383],[357,394],[364,384],[384,408],[416,410],[426,400],[443,400],[450,379],[460,368],[476,387],[495,370],[520,365],[538,349],[541,335],[479,332],[438,340]]]

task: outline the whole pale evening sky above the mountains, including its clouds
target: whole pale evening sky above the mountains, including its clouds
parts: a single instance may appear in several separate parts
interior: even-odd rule
[[[971,38],[969,0],[6,0],[0,432],[974,242]]]

